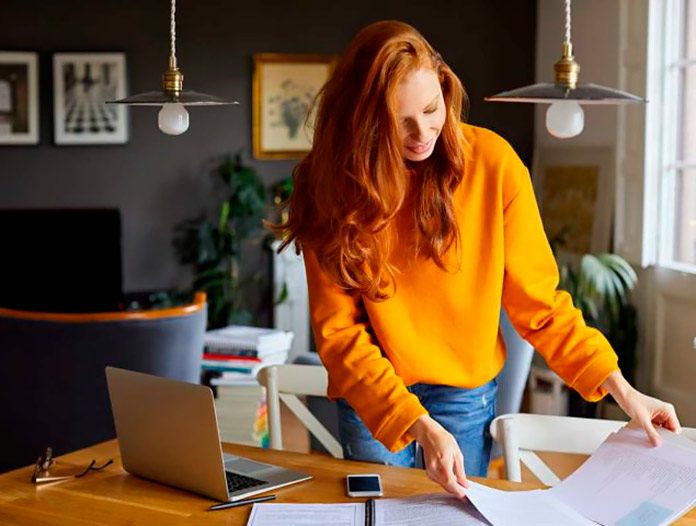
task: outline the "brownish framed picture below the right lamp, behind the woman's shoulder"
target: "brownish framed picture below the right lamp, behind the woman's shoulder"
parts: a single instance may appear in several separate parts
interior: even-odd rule
[[[539,209],[549,240],[572,254],[607,252],[614,210],[614,151],[605,147],[539,148]]]

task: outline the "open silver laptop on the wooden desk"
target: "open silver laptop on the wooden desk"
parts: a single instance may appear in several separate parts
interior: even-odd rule
[[[123,468],[144,478],[235,501],[312,477],[224,454],[213,392],[149,374],[106,368]]]

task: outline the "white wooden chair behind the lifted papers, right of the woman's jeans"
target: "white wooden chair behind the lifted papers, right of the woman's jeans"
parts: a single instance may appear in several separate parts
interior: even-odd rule
[[[534,451],[590,455],[613,432],[627,422],[571,416],[514,413],[491,422],[491,435],[502,445],[508,480],[522,482],[520,462],[543,484],[553,486],[558,476]],[[682,436],[696,441],[695,428],[682,428]]]

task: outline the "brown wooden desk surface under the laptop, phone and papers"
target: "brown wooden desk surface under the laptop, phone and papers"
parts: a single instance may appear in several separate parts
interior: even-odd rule
[[[441,491],[424,471],[336,460],[321,455],[268,451],[225,444],[225,451],[260,461],[272,462],[311,473],[308,482],[276,490],[273,502],[348,502],[344,493],[346,473],[377,472],[382,476],[385,497],[403,497]],[[96,459],[114,463],[102,472],[81,479],[35,486],[30,482],[33,468],[21,468],[0,475],[0,524],[3,525],[244,525],[250,506],[224,511],[207,511],[214,502],[208,498],[156,484],[127,474],[121,467],[115,440],[60,457],[65,464],[84,467]],[[534,484],[481,480],[501,489],[532,489]],[[678,521],[696,526],[696,510]]]

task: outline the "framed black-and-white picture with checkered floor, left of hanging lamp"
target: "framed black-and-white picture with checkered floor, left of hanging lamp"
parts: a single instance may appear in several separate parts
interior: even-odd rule
[[[53,126],[56,144],[123,144],[126,107],[106,104],[126,96],[123,53],[53,55]]]

